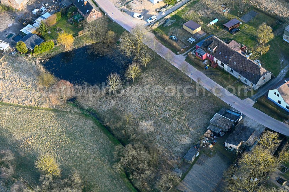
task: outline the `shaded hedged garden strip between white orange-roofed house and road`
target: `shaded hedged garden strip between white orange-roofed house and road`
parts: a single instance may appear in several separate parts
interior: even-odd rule
[[[275,106],[273,102],[266,99],[265,96],[260,97],[253,107],[281,122],[289,118],[288,113],[284,113],[284,110]]]

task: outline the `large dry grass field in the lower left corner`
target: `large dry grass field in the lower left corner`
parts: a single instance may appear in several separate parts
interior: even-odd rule
[[[129,181],[112,168],[117,140],[88,116],[6,103],[0,104],[0,115],[0,148],[16,154],[18,178],[34,186],[40,175],[34,161],[49,153],[63,176],[79,172],[86,191],[130,191]]]

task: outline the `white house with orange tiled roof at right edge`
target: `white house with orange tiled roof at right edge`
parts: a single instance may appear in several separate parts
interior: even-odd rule
[[[268,91],[268,99],[289,112],[289,78],[284,78],[271,87]]]

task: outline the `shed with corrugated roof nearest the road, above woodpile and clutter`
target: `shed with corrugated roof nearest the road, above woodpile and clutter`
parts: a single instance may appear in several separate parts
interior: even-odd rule
[[[210,126],[207,129],[215,133],[220,133],[221,131],[227,132],[238,125],[241,120],[242,113],[222,108],[213,116],[210,121]]]

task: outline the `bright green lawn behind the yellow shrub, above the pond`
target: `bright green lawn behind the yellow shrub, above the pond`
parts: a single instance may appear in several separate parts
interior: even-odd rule
[[[83,27],[81,27],[81,26],[79,26],[79,27],[72,26],[67,20],[68,20],[68,18],[66,16],[66,14],[62,15],[61,19],[55,25],[50,27],[49,31],[51,31],[51,33],[48,34],[48,37],[45,40],[50,40],[50,39],[51,40],[53,40],[53,39],[56,40],[57,37],[58,37],[58,33],[56,33],[55,30],[58,27],[63,29],[66,33],[72,34],[73,36],[76,36],[77,33],[83,29]]]

